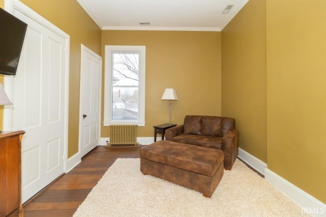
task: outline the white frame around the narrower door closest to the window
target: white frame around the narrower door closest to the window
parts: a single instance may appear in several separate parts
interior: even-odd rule
[[[79,137],[78,137],[78,153],[80,155],[80,157],[82,157],[82,121],[83,121],[83,110],[82,110],[82,93],[83,93],[83,82],[84,82],[84,52],[88,52],[90,54],[92,54],[93,56],[97,57],[100,60],[100,73],[99,73],[99,105],[98,105],[98,109],[99,109],[99,116],[98,116],[98,144],[100,145],[100,141],[101,141],[101,111],[102,111],[102,57],[99,56],[98,54],[96,54],[94,51],[92,51],[91,49],[89,49],[88,47],[86,47],[85,45],[81,44],[81,49],[80,49],[80,90],[79,90]]]

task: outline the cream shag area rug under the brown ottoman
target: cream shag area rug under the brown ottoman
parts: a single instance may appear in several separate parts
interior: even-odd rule
[[[307,214],[305,214],[307,215]],[[143,175],[140,159],[117,159],[73,216],[304,216],[301,207],[238,159],[212,197]]]

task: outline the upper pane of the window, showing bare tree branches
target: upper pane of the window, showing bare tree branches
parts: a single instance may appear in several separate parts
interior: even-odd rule
[[[138,86],[139,53],[113,53],[113,84]]]

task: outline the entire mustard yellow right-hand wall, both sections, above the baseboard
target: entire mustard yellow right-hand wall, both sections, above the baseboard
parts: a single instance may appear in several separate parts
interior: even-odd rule
[[[222,31],[222,114],[237,118],[240,147],[323,203],[325,11],[323,0],[250,0]]]

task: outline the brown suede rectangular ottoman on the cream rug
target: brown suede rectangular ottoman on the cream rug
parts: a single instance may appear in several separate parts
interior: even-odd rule
[[[222,150],[161,140],[140,149],[141,171],[211,197],[224,173]]]

